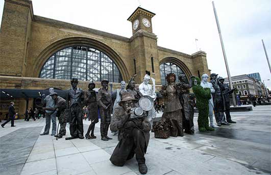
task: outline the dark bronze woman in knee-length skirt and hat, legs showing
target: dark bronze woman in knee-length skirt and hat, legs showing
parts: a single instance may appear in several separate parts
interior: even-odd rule
[[[98,105],[97,105],[97,100],[96,100],[96,92],[94,88],[95,88],[95,83],[90,82],[88,84],[88,90],[86,90],[84,93],[85,104],[87,105],[87,108],[88,108],[88,118],[91,120],[87,133],[85,135],[86,139],[96,138],[96,136],[94,136],[94,128],[95,128],[95,124],[99,122]],[[89,135],[90,131],[91,131],[91,134]]]

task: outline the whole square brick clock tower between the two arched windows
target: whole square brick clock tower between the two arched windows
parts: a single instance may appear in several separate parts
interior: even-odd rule
[[[134,63],[137,84],[142,82],[145,70],[149,70],[156,83],[161,84],[157,36],[153,33],[152,25],[152,17],[154,16],[155,13],[138,7],[127,19],[132,22],[131,62]]]

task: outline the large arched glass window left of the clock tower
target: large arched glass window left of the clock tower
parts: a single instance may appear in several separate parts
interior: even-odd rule
[[[40,78],[120,82],[121,74],[105,53],[87,46],[70,46],[53,54],[43,65]]]

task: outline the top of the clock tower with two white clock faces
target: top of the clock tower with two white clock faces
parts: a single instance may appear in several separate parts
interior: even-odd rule
[[[154,15],[155,13],[138,7],[127,19],[132,22],[133,34],[140,29],[153,33],[152,17]]]

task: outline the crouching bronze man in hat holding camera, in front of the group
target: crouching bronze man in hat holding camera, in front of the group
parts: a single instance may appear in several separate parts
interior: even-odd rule
[[[147,118],[131,118],[131,108],[138,106],[138,100],[130,92],[124,92],[119,102],[120,108],[116,108],[111,131],[118,131],[118,144],[110,157],[112,164],[123,166],[127,160],[136,155],[139,172],[147,173],[145,157],[147,145],[150,140],[151,124]]]

